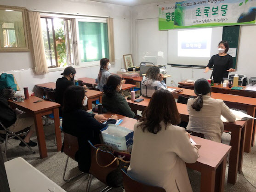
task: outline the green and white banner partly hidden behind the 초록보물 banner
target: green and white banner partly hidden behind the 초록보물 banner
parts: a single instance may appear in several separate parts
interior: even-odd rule
[[[174,28],[175,3],[159,5],[159,30]]]

